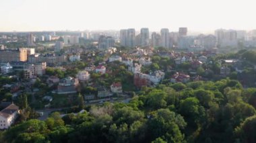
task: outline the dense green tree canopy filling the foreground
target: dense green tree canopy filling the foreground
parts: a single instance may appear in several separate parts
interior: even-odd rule
[[[1,142],[255,142],[255,96],[230,79],[144,87],[129,103],[28,120]]]

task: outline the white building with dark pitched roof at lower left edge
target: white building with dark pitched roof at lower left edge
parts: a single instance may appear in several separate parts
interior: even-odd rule
[[[0,111],[0,129],[7,129],[15,122],[18,117],[19,107],[11,103]]]

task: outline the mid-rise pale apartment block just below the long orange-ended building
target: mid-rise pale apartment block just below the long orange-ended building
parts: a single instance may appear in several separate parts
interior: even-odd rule
[[[28,64],[24,68],[24,78],[32,79],[45,74],[46,62],[37,64]]]

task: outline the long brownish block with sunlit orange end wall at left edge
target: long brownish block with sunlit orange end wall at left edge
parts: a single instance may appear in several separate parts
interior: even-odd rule
[[[28,50],[26,48],[0,50],[0,62],[26,62]]]

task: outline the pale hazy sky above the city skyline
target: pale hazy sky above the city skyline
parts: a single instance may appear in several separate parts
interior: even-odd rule
[[[255,0],[0,0],[0,31],[256,29]]]

